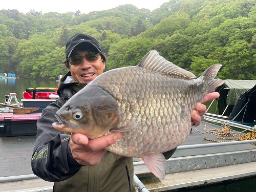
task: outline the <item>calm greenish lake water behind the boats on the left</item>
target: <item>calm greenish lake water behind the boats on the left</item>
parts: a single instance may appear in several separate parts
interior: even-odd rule
[[[56,88],[58,81],[55,80],[35,80],[23,78],[0,78],[0,103],[5,102],[5,95],[16,93],[18,100],[22,99],[22,94],[27,88]],[[14,102],[14,99],[12,100]]]

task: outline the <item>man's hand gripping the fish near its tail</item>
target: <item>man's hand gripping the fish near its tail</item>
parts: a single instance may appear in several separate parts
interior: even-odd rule
[[[220,96],[218,92],[212,92],[205,96],[203,102],[216,99]],[[203,103],[202,102],[202,103]],[[191,113],[191,125],[198,126],[201,123],[201,116],[206,113],[206,106],[202,103],[197,103],[195,110]]]

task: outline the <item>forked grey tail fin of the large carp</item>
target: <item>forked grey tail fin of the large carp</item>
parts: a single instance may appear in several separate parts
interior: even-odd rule
[[[201,75],[201,77],[205,78],[208,84],[208,93],[213,92],[217,87],[221,86],[224,83],[222,79],[215,79],[221,67],[221,64],[212,65]]]

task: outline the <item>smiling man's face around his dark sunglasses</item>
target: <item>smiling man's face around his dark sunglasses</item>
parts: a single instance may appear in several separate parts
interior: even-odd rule
[[[90,51],[79,51],[74,50],[72,56],[74,55],[86,55]],[[79,65],[70,65],[70,72],[74,80],[78,82],[90,83],[93,79],[103,73],[105,69],[105,63],[102,61],[101,56],[95,61],[88,61],[86,58],[82,58]]]

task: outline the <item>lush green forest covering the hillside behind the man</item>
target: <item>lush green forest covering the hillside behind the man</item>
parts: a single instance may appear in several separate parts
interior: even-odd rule
[[[44,13],[0,10],[0,72],[57,79],[68,70],[67,39],[87,33],[108,56],[106,71],[136,66],[152,49],[199,76],[223,65],[222,79],[256,79],[255,0],[170,0],[150,11],[133,5]]]

